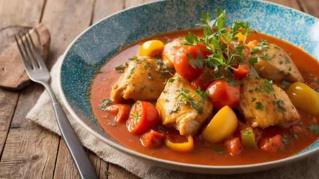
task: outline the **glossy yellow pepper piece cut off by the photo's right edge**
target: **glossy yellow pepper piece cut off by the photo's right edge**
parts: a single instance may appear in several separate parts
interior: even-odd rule
[[[287,90],[293,105],[313,115],[319,115],[319,93],[308,85],[296,82]]]

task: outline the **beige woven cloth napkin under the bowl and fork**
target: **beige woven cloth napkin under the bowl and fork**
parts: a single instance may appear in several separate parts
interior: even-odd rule
[[[57,73],[61,62],[62,58],[60,57],[51,70],[51,88],[59,100]],[[61,104],[63,106],[63,103]],[[86,131],[72,118],[68,111],[64,111],[84,147],[97,154],[103,160],[119,165],[142,179],[319,179],[319,156],[313,156],[310,159],[279,169],[243,175],[199,175],[161,169],[109,147]],[[46,90],[43,91],[26,118],[61,135],[52,108],[51,98]]]

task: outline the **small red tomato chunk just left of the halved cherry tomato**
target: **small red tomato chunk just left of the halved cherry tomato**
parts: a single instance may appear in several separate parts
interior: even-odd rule
[[[112,104],[109,108],[111,113],[116,114],[116,123],[121,123],[129,118],[131,108],[128,104]]]

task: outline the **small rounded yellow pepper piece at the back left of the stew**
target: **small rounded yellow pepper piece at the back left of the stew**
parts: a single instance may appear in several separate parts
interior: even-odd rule
[[[164,49],[164,44],[160,40],[149,40],[142,44],[140,56],[154,57],[160,55]]]

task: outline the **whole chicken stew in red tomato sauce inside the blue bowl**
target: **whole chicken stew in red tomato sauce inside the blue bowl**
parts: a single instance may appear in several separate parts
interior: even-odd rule
[[[143,39],[93,80],[101,126],[129,149],[200,165],[245,165],[297,154],[319,137],[319,63],[225,12],[203,29]]]

